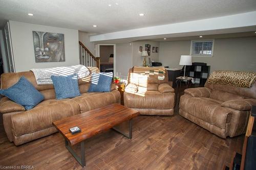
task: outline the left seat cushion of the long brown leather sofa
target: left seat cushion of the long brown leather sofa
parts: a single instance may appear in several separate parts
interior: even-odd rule
[[[52,127],[52,123],[61,118],[80,113],[77,102],[72,99],[46,100],[35,108],[12,115],[15,136],[20,136]]]

